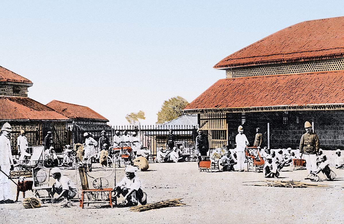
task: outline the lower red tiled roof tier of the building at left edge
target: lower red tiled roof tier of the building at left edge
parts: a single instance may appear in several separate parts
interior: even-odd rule
[[[0,96],[0,120],[69,120],[28,97]]]

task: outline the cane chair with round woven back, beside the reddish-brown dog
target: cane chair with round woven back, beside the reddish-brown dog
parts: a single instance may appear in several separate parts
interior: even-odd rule
[[[52,187],[49,186],[50,169],[45,167],[32,168],[33,176],[33,195],[41,200],[50,200],[52,198]],[[44,197],[40,194],[41,191],[47,191],[48,196]]]

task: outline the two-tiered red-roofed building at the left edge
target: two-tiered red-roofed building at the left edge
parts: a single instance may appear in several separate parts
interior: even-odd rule
[[[33,83],[0,66],[0,125],[9,122],[12,154],[17,155],[17,138],[20,130],[26,132],[29,146],[42,145],[45,135],[52,131],[57,152],[67,143],[66,122],[69,118],[28,97]]]

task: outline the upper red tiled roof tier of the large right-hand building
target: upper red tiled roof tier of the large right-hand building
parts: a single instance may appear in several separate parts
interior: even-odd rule
[[[219,61],[214,68],[317,60],[344,56],[344,16],[284,28]]]

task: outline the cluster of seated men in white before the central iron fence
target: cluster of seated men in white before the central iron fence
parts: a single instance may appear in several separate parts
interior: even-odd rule
[[[167,150],[164,150],[163,146],[160,146],[159,151],[157,152],[157,157],[155,158],[155,162],[184,162],[185,159],[189,156],[189,153],[183,153],[182,145],[179,147],[179,149],[174,146],[172,150],[169,148]]]

